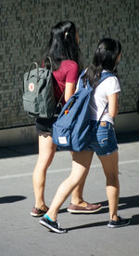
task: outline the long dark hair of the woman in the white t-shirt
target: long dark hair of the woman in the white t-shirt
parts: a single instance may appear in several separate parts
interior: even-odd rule
[[[117,58],[121,52],[120,42],[113,38],[103,38],[95,50],[93,64],[83,75],[83,80],[89,80],[92,87],[96,87],[103,70],[117,74]]]

